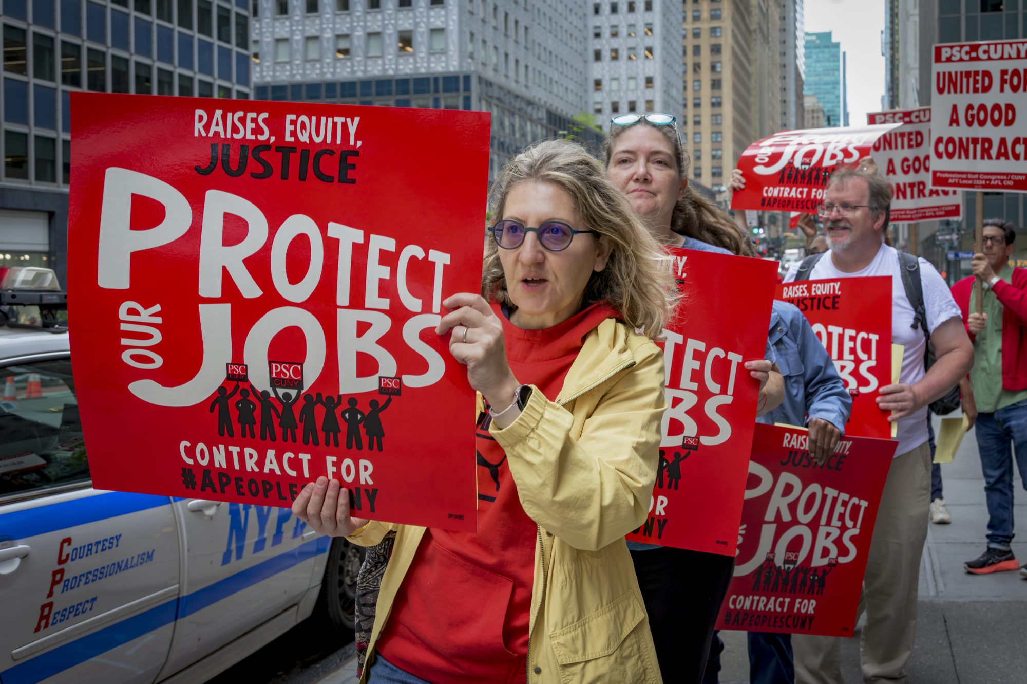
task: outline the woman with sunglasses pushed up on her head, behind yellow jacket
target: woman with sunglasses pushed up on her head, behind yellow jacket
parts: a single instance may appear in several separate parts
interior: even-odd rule
[[[741,229],[688,185],[688,157],[673,116],[614,117],[602,155],[607,178],[661,243],[753,256]],[[776,408],[784,397],[776,367],[759,360],[747,362],[746,368],[761,382],[760,415]],[[717,614],[734,572],[734,558],[637,541],[627,545],[652,623],[663,680],[698,684],[706,671]]]

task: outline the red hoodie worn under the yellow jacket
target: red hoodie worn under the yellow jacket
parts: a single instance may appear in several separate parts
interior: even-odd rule
[[[493,309],[514,376],[550,400],[588,333],[618,317],[594,304],[553,328],[523,330]],[[377,646],[386,660],[429,682],[518,684],[527,675],[537,527],[490,423],[488,413],[479,416],[478,532],[425,530]]]

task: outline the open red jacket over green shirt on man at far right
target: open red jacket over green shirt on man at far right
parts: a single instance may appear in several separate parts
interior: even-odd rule
[[[952,286],[952,297],[962,311],[963,326],[969,335],[969,294],[974,276]],[[1002,389],[1027,389],[1027,269],[1014,268],[1012,282],[999,278],[992,290],[1002,305]]]

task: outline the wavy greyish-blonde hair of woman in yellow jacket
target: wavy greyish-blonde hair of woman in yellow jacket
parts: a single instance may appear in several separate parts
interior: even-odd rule
[[[510,189],[525,181],[551,183],[567,192],[584,222],[575,228],[595,230],[611,248],[606,268],[594,271],[585,286],[583,306],[606,301],[629,326],[658,338],[677,298],[667,253],[606,179],[599,161],[566,140],[532,145],[507,162],[492,184],[489,208],[496,220],[503,216]],[[491,233],[483,270],[482,296],[512,307]]]

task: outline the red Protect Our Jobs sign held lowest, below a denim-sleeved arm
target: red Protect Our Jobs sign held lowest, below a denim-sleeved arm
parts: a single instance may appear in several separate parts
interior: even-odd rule
[[[823,464],[806,430],[756,426],[721,630],[851,637],[898,443],[845,435]]]

